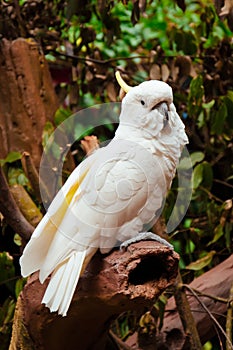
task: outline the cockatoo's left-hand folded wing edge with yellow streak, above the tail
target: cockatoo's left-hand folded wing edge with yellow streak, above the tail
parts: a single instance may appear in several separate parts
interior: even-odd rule
[[[44,264],[67,209],[89,171],[89,167],[84,167],[80,174],[80,169],[78,168],[74,170],[63,188],[57,193],[47,214],[36,227],[29,243],[25,247],[20,258],[22,276],[26,277],[40,270]]]

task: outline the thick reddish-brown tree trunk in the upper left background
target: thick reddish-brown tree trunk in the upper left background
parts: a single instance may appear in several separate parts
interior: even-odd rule
[[[58,101],[36,41],[0,41],[0,91],[0,158],[11,151],[27,151],[39,168],[42,132]]]

